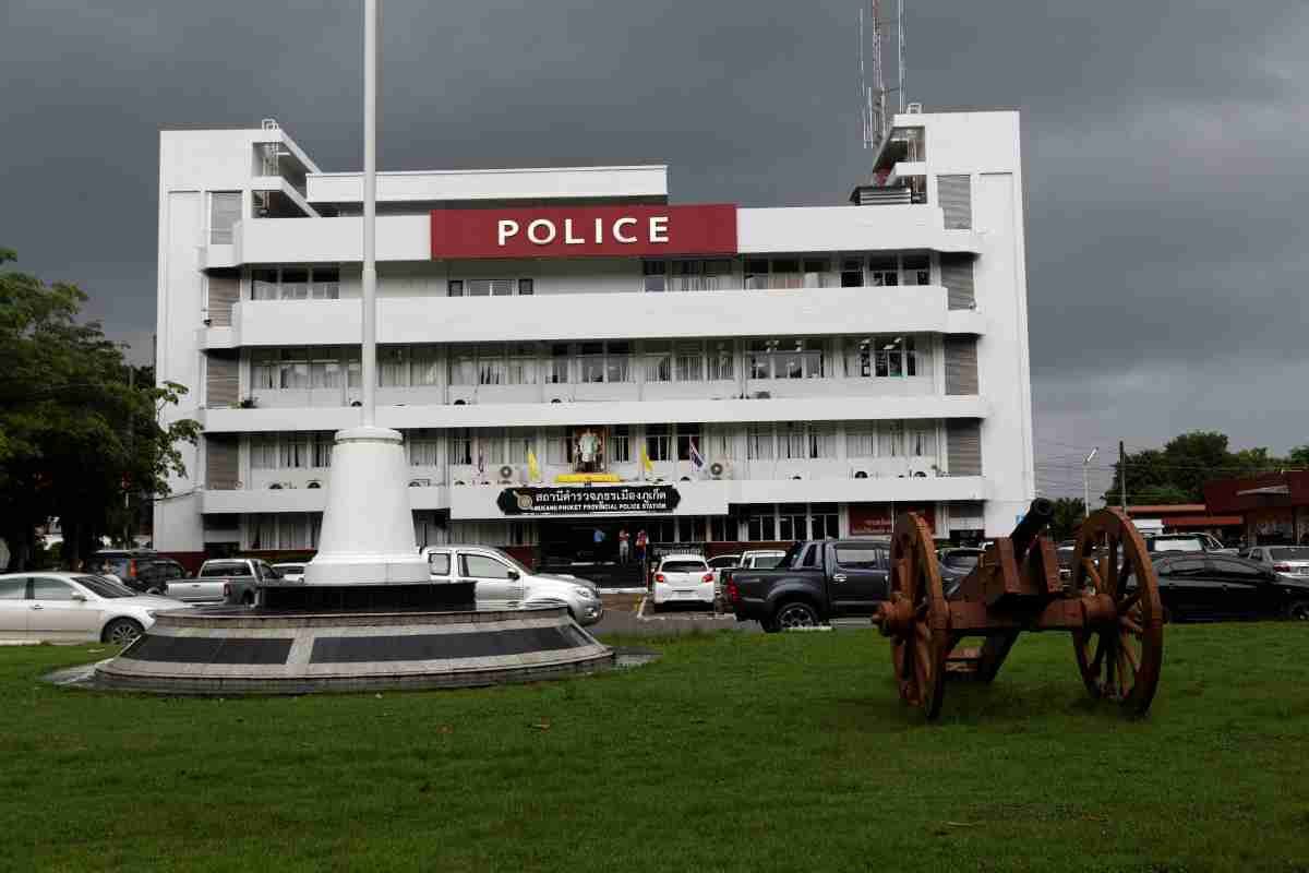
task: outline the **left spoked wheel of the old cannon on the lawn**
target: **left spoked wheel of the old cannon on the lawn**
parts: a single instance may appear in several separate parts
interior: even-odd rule
[[[916,513],[895,521],[891,539],[891,597],[882,609],[882,633],[891,637],[891,658],[901,700],[928,719],[941,712],[950,614],[927,524]]]

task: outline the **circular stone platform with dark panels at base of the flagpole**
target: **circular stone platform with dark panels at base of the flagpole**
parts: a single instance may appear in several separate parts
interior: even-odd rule
[[[535,682],[594,673],[614,652],[564,607],[456,613],[160,613],[96,665],[98,687],[160,694],[306,694]]]

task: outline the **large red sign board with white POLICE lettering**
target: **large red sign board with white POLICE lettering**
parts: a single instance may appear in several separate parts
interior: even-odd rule
[[[435,209],[432,258],[734,255],[736,207]]]

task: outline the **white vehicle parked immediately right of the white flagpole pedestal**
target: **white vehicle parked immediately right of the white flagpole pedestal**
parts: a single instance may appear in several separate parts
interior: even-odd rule
[[[568,614],[581,626],[594,624],[605,615],[594,584],[576,576],[533,573],[499,548],[428,546],[423,554],[433,582],[475,582],[479,610],[567,606]]]

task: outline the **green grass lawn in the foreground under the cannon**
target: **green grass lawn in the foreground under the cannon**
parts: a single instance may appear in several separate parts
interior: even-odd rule
[[[1059,633],[935,725],[870,631],[653,645],[530,687],[226,700],[55,688],[103,648],[0,648],[0,869],[1309,868],[1304,626],[1169,627],[1145,721]]]

